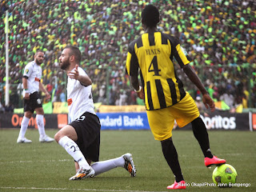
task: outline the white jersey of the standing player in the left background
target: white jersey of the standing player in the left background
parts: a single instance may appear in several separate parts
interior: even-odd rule
[[[24,69],[23,77],[27,78],[27,88],[30,94],[39,90],[39,82],[42,78],[42,68],[36,62],[29,62]],[[23,97],[25,91],[23,90]]]

